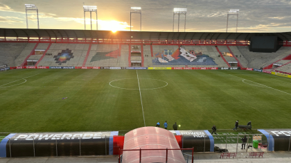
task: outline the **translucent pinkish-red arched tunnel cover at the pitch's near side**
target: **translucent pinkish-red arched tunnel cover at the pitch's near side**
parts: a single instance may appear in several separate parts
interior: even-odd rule
[[[179,148],[172,132],[163,128],[136,128],[125,134],[123,149]],[[124,151],[124,163],[139,162],[139,151]],[[141,162],[166,162],[166,150],[141,151]],[[185,162],[180,150],[168,150],[168,163]]]

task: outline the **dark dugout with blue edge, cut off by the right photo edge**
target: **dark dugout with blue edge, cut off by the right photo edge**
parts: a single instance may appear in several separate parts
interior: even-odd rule
[[[288,151],[290,144],[291,129],[258,130],[267,137],[269,151]],[[291,148],[291,146],[290,146]]]

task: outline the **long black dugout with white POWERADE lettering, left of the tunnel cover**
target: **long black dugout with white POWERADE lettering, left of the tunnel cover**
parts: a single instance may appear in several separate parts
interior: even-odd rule
[[[10,134],[0,143],[0,157],[10,157],[10,149],[11,157],[112,155],[115,135],[118,131]]]

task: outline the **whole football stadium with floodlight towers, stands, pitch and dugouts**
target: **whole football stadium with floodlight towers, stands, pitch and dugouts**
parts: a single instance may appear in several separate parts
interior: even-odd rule
[[[0,28],[0,162],[288,162],[291,33],[174,24]]]

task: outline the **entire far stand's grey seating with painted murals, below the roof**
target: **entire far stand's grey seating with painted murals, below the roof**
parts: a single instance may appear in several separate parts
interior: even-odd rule
[[[49,43],[0,43],[0,65],[21,66],[25,64],[25,60],[39,60],[37,66],[129,67],[130,62],[142,62],[143,60],[143,67],[228,67],[227,63],[219,57],[220,53],[215,46],[182,45],[181,49],[179,49],[177,45],[152,45],[151,51],[150,45],[139,45],[135,46],[136,49],[130,49],[132,46],[128,44],[91,44],[85,65],[84,60],[90,44],[53,43],[46,51],[46,53],[51,53],[52,55],[46,55],[46,53],[43,55],[34,55],[34,48],[35,50],[45,51],[48,46]],[[141,46],[143,46],[142,49]],[[227,55],[224,55],[227,62],[236,62],[237,58],[243,67],[256,69],[261,69],[261,67],[275,63],[282,66],[277,68],[273,67],[273,69],[269,69],[270,71],[290,72],[290,64],[285,65],[290,60],[282,60],[285,56],[291,54],[290,47],[283,46],[276,53],[250,52],[248,46],[217,47],[221,53],[227,53]],[[67,62],[62,62],[60,65],[59,62],[56,62],[55,56],[67,49],[73,53],[73,57],[69,57],[70,59]],[[129,58],[130,50],[143,50],[141,52],[143,59],[139,55],[131,55]],[[197,55],[198,59],[196,58],[191,61],[188,57],[182,57],[182,52],[189,55],[189,58],[191,58],[192,54]],[[233,53],[236,58],[228,56],[229,53]],[[168,56],[164,56],[164,54],[168,54]],[[179,60],[176,62],[172,61],[172,64],[171,60],[173,59],[171,57]],[[42,60],[40,60],[41,58]],[[197,62],[198,60],[200,62]]]

